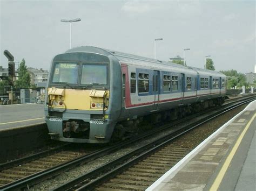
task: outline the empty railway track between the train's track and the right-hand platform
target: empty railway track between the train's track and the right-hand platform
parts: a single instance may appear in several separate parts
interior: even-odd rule
[[[193,131],[199,125],[251,101],[244,101],[218,111],[217,114],[201,119],[196,124],[190,124],[182,130],[156,140],[156,142],[137,148],[137,150],[80,175],[54,190],[145,190],[193,149],[193,146],[183,146],[184,138],[181,136],[186,136],[188,131]],[[194,130],[188,136],[198,136],[200,132],[200,130]],[[207,138],[211,133],[204,132],[204,137]],[[193,140],[188,143],[188,145],[190,144],[194,144],[194,147],[197,145],[193,143]]]

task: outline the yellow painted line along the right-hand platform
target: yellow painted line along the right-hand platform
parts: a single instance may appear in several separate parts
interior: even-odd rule
[[[254,116],[251,118],[251,120],[247,123],[245,129],[242,131],[241,135],[239,136],[237,142],[235,143],[234,147],[232,148],[232,151],[230,152],[230,154],[228,154],[228,157],[226,159],[226,161],[224,162],[223,167],[221,167],[219,174],[217,175],[217,178],[215,179],[215,181],[213,182],[210,190],[214,191],[217,190],[220,186],[221,181],[223,180],[223,177],[227,171],[228,166],[230,166],[230,162],[232,161],[235,152],[237,152],[237,149],[242,141],[242,138],[245,136],[246,131],[249,129],[251,123],[253,122],[254,118],[256,117],[256,114],[254,114]]]

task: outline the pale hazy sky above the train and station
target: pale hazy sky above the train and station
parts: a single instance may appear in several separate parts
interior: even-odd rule
[[[50,68],[53,56],[72,47],[97,46],[168,61],[185,52],[188,66],[254,72],[256,3],[243,1],[10,1],[0,0],[0,66],[3,51],[28,67]]]

